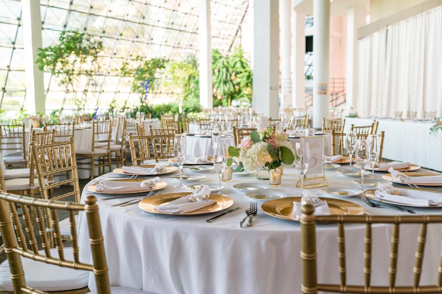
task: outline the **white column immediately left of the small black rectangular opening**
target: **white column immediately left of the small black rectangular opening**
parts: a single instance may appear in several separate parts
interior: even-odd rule
[[[292,105],[305,108],[305,15],[293,11],[293,44],[292,44]]]

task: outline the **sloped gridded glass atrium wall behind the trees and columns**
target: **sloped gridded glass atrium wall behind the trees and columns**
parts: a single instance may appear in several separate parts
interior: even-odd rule
[[[225,4],[227,3],[227,4]],[[84,81],[87,98],[106,106],[112,99],[129,103],[131,77],[117,69],[135,58],[181,59],[198,51],[199,0],[40,0],[43,47],[58,40],[61,31],[78,30],[103,42],[99,57],[101,73],[93,84]],[[239,38],[249,0],[211,0],[212,48],[228,51]],[[20,0],[0,0],[0,108],[20,110],[26,105],[23,54],[23,21]],[[47,110],[69,105],[68,95],[51,73],[45,73]],[[77,89],[79,93],[83,89]],[[153,98],[176,98],[176,93],[158,88]],[[26,107],[24,107],[26,108]]]

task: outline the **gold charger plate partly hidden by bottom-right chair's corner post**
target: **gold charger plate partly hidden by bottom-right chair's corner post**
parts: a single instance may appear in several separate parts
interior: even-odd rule
[[[358,216],[365,213],[365,209],[359,204],[334,198],[319,197],[319,199],[327,201],[331,215],[352,215]],[[288,220],[299,221],[299,218],[293,215],[293,202],[300,202],[301,197],[285,197],[270,200],[261,206],[262,211],[269,216]]]

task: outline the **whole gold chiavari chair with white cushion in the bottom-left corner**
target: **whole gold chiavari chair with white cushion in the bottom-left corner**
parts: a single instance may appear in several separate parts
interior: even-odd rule
[[[26,234],[15,205],[23,210]],[[30,210],[35,211],[35,219]],[[42,213],[43,210],[43,213]],[[46,213],[52,218],[47,219]],[[58,225],[58,212],[69,215],[72,247],[64,247]],[[89,232],[92,264],[80,261],[75,213],[83,212]],[[46,228],[54,221],[53,236],[55,248],[51,248],[50,235]],[[34,233],[38,226],[39,238]],[[95,196],[88,196],[86,204],[62,202],[48,199],[34,199],[8,193],[0,193],[0,229],[7,262],[1,264],[2,283],[0,290],[14,293],[43,294],[43,291],[69,291],[63,293],[85,293],[89,271],[95,275],[97,293],[111,294],[106,264],[106,253]],[[43,250],[38,250],[41,247]],[[60,267],[64,268],[63,270]],[[32,272],[26,275],[26,272]],[[10,272],[10,273],[9,273]],[[38,287],[39,289],[35,289]],[[81,289],[81,290],[79,290]]]

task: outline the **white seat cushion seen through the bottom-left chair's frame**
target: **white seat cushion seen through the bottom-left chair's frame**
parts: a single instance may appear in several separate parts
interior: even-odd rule
[[[44,251],[38,251],[44,255]],[[56,248],[51,256],[58,257]],[[66,260],[74,260],[72,247],[64,248]],[[87,286],[89,271],[73,270],[22,257],[26,284],[40,291],[67,291]],[[0,265],[0,290],[13,291],[8,261]]]

